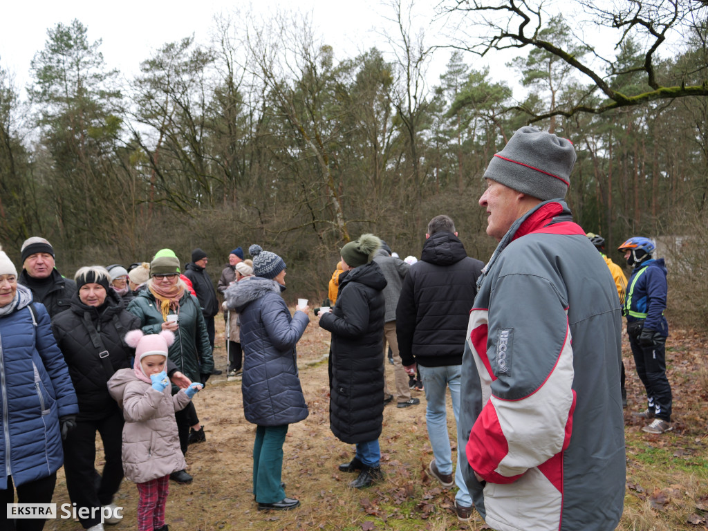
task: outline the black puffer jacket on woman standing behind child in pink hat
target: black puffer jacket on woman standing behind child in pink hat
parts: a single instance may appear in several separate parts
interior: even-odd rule
[[[108,350],[108,360],[113,370],[130,367],[130,358],[135,350],[123,342],[125,333],[140,328],[140,321],[123,309],[120,297],[108,290],[105,302],[100,307],[86,306],[79,295],[74,295],[71,308],[52,319],[52,331],[57,345],[62,350],[69,367],[76,398],[79,400],[79,418],[96,420],[112,414],[118,403],[108,394],[108,378],[96,348],[91,342],[91,334],[86,326],[86,318],[101,336]]]

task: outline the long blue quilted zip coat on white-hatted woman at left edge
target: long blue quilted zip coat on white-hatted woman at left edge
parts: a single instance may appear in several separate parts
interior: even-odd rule
[[[0,317],[0,490],[8,475],[18,486],[56,472],[64,462],[59,417],[79,413],[47,309],[23,285],[17,293],[16,309]]]

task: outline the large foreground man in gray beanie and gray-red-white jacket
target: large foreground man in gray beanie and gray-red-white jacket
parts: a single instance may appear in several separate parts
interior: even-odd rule
[[[619,298],[564,202],[575,161],[569,140],[522,127],[484,173],[499,243],[469,316],[458,448],[498,531],[603,531],[622,515]]]

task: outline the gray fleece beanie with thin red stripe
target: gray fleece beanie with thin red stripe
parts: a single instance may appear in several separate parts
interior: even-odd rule
[[[570,140],[527,125],[492,157],[484,178],[542,201],[564,198],[575,161]]]

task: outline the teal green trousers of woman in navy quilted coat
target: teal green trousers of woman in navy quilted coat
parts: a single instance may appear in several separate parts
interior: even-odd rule
[[[282,481],[282,444],[288,424],[258,426],[253,442],[253,493],[259,503],[275,503],[285,498]]]

